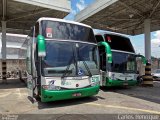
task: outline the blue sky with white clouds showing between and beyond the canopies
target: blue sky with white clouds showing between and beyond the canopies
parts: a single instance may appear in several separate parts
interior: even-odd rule
[[[92,4],[96,0],[71,0],[71,13],[65,17],[67,20],[74,20],[75,15]],[[97,32],[98,30],[94,30]],[[136,53],[144,55],[144,34],[128,36],[135,48]],[[160,30],[151,33],[151,55],[160,58]]]

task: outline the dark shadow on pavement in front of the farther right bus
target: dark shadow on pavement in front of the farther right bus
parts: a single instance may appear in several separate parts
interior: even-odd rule
[[[160,82],[154,82],[154,87],[130,86],[101,88],[104,92],[114,92],[130,97],[160,104]]]

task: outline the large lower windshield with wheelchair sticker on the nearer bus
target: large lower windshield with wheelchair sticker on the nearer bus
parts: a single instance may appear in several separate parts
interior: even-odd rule
[[[99,74],[97,47],[93,44],[47,40],[42,60],[44,76],[75,77]]]

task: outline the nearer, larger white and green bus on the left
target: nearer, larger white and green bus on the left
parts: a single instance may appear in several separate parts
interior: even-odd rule
[[[27,87],[32,98],[49,102],[98,93],[99,54],[90,26],[40,18],[23,48],[27,48]]]

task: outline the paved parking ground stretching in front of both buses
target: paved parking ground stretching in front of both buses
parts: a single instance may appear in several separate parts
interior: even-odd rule
[[[160,82],[154,87],[103,88],[93,97],[32,104],[19,80],[0,83],[1,114],[160,114]]]

